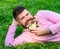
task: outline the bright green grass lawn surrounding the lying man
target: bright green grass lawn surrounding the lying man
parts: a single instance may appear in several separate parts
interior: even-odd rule
[[[16,48],[4,45],[6,33],[13,19],[12,11],[18,5],[25,6],[32,15],[36,14],[38,10],[51,10],[60,13],[60,0],[0,0],[0,49],[60,49],[58,43],[26,43]],[[15,37],[22,30],[23,28],[18,27]]]

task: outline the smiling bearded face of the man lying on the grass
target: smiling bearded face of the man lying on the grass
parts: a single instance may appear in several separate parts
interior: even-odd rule
[[[17,16],[18,23],[20,23],[24,27],[30,24],[32,22],[32,19],[32,15],[26,9]]]

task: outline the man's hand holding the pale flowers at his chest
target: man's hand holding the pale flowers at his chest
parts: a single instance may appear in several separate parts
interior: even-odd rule
[[[30,32],[36,35],[46,35],[49,34],[50,30],[48,28],[44,28],[43,26],[36,27],[36,28],[29,28]]]

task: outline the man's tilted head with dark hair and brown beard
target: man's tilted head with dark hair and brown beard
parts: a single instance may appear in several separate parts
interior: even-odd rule
[[[32,22],[32,15],[25,9],[25,7],[16,7],[13,10],[13,16],[15,20],[22,26],[26,27]]]

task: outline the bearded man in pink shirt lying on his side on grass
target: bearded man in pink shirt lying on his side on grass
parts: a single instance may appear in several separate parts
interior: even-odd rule
[[[38,21],[39,27],[30,28],[30,31],[26,29],[26,26],[32,23],[33,17],[25,7],[16,7],[13,10],[13,16],[14,19],[6,35],[5,46],[16,46],[27,42],[60,42],[60,14],[48,10],[38,11],[34,18]],[[14,39],[18,25],[25,29]]]

